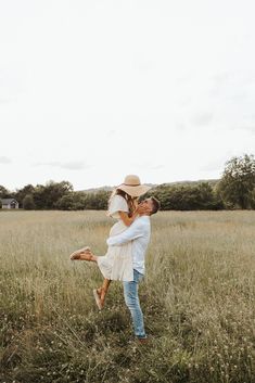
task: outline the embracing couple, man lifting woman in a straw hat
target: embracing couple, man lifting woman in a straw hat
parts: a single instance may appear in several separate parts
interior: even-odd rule
[[[111,228],[107,239],[107,253],[104,256],[94,255],[89,247],[80,248],[71,255],[72,260],[93,261],[103,275],[103,283],[93,290],[99,309],[102,309],[111,281],[120,280],[124,286],[124,297],[130,310],[136,337],[146,340],[143,314],[140,307],[138,284],[145,271],[145,251],[150,242],[150,216],[160,208],[155,197],[149,197],[138,203],[138,199],[151,188],[141,184],[138,176],[126,176],[124,183],[112,193],[107,215],[117,222]]]

